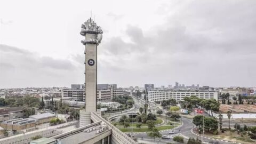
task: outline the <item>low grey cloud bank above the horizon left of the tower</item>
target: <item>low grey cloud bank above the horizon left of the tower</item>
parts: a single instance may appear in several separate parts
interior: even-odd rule
[[[41,57],[18,47],[0,45],[0,87],[68,86],[83,83],[83,69],[68,59]],[[79,76],[72,77],[73,75]]]

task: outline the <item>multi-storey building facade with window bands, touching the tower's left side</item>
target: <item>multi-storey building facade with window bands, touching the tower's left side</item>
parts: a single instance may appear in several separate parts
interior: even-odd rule
[[[61,90],[62,101],[84,101],[85,91],[84,90],[72,90],[62,89]]]

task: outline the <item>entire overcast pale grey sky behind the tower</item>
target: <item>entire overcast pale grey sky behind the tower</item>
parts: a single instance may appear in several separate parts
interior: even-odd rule
[[[103,29],[98,83],[256,86],[256,1],[0,1],[0,88],[84,83],[81,24]]]

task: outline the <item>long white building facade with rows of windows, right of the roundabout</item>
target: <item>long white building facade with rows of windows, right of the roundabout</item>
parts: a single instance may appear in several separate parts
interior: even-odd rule
[[[149,91],[148,100],[151,102],[175,99],[177,101],[183,101],[184,97],[190,97],[195,95],[198,98],[203,99],[215,99],[218,100],[217,91]]]

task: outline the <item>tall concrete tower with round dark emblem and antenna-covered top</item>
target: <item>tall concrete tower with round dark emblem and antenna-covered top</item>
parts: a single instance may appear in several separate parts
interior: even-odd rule
[[[80,34],[85,36],[85,110],[80,111],[80,126],[91,123],[90,113],[97,110],[97,45],[103,31],[92,18],[82,24]]]

